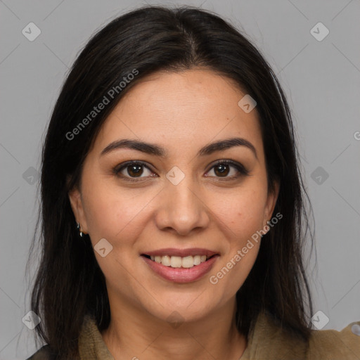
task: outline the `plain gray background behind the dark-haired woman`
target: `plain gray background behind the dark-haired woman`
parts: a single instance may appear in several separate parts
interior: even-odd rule
[[[25,264],[37,218],[41,142],[60,85],[91,34],[142,4],[0,0],[0,359],[24,359],[36,350],[33,330],[22,322],[31,310]],[[147,4],[215,11],[244,30],[269,60],[293,109],[314,207],[317,269],[314,256],[307,266],[314,312],[330,319],[324,330],[359,321],[360,1]],[[30,22],[41,30],[34,41],[22,34]],[[330,31],[322,41],[310,32],[319,22]]]

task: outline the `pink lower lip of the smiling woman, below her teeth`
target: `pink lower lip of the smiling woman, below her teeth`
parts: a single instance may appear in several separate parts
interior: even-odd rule
[[[166,280],[173,281],[174,283],[191,283],[191,281],[196,281],[202,278],[207,274],[214,265],[214,262],[217,261],[219,255],[214,255],[211,259],[208,259],[206,262],[202,262],[200,265],[195,265],[189,269],[184,269],[182,267],[171,267],[159,264],[154,262],[147,257],[141,256],[143,260],[150,266],[150,269],[155,271],[156,274],[162,276]]]

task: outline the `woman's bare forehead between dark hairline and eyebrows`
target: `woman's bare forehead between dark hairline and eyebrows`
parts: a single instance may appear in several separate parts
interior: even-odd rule
[[[256,108],[245,113],[238,105],[245,95],[232,79],[211,70],[155,72],[120,100],[94,147],[101,151],[112,141],[141,139],[171,152],[239,136],[261,153]]]

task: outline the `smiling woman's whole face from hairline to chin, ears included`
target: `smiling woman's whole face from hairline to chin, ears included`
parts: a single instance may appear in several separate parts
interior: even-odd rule
[[[105,121],[70,200],[112,311],[193,321],[234,300],[278,193],[268,193],[256,108],[240,108],[243,96],[210,70],[157,72]],[[120,146],[125,139],[147,145]]]

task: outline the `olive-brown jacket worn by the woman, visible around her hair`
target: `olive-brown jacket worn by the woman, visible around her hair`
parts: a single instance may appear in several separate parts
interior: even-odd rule
[[[79,354],[81,360],[114,360],[89,316],[85,317],[79,336]],[[49,345],[45,345],[27,360],[51,359],[55,357]],[[360,360],[360,321],[341,331],[312,330],[307,346],[276,326],[271,316],[262,313],[250,328],[248,347],[240,360]]]

